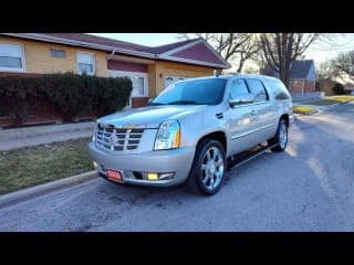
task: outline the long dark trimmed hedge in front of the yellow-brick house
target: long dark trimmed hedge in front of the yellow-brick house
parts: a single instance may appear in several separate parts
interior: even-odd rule
[[[127,77],[98,77],[73,73],[45,74],[35,77],[0,77],[0,97],[6,102],[13,124],[25,123],[31,109],[45,100],[61,115],[63,121],[73,121],[90,113],[100,117],[126,106],[132,92]]]

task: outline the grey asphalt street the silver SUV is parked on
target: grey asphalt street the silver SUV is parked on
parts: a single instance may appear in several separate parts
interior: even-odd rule
[[[103,179],[0,209],[0,231],[353,231],[354,104],[299,118],[283,153],[229,172],[214,197]]]

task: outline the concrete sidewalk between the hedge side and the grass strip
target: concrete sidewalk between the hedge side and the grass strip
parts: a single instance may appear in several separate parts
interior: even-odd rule
[[[90,137],[95,123],[77,123],[0,130],[0,150]]]

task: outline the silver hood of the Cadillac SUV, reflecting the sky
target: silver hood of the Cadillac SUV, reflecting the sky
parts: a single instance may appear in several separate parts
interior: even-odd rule
[[[121,126],[136,126],[143,128],[158,128],[167,119],[178,119],[181,116],[194,114],[207,105],[167,105],[147,106],[118,112],[97,119],[97,123]]]

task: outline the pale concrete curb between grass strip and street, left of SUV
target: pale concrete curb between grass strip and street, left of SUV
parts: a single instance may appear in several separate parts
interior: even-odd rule
[[[55,180],[49,183],[39,184],[31,188],[27,188],[24,190],[14,191],[4,195],[0,195],[0,208],[15,203],[15,202],[20,202],[33,197],[38,197],[40,194],[44,194],[50,191],[59,190],[61,188],[64,188],[71,184],[79,184],[84,181],[94,179],[97,176],[98,176],[97,171],[92,170],[92,171],[75,174],[69,178]]]

